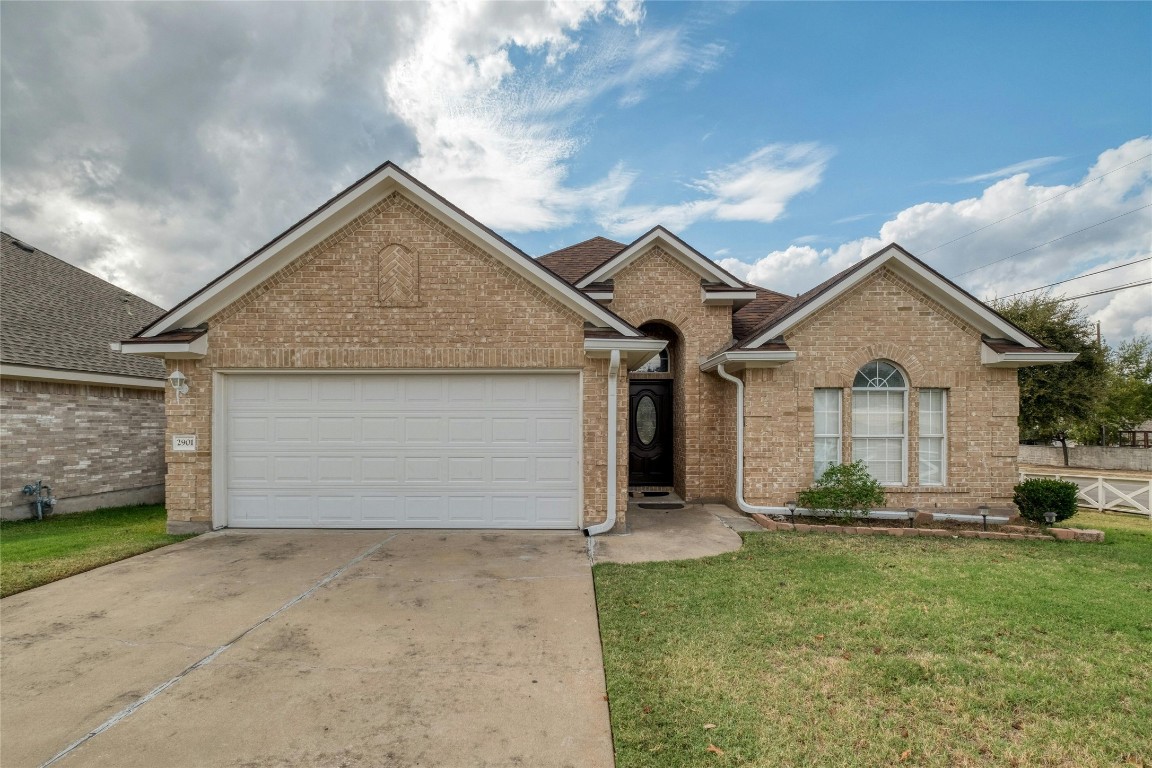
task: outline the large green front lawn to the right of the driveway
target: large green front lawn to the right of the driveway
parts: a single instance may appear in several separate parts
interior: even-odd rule
[[[1152,766],[1152,524],[1068,524],[597,565],[616,765]]]

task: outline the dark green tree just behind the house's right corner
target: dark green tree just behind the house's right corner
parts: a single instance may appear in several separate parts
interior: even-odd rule
[[[1021,439],[1059,440],[1067,466],[1069,434],[1098,429],[1100,424],[1108,380],[1096,326],[1077,304],[1051,294],[1000,301],[993,307],[1048,349],[1078,353],[1071,363],[1018,371]]]

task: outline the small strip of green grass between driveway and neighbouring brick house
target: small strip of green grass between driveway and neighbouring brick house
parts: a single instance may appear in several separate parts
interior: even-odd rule
[[[119,507],[0,523],[0,596],[188,539],[165,533],[164,507]]]

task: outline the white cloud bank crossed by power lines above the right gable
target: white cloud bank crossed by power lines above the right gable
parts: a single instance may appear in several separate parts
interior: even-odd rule
[[[1026,175],[1015,175],[986,188],[979,197],[905,208],[886,221],[876,237],[819,250],[791,245],[755,264],[729,258],[720,265],[752,283],[796,294],[887,243],[896,242],[946,276],[967,272],[957,282],[980,298],[1007,296],[1152,256],[1152,208],[1145,208],[980,268],[1017,251],[1152,204],[1152,160],[1149,155],[1152,155],[1152,137],[1142,137],[1101,153],[1084,174],[1081,183],[1087,183],[1083,187],[1033,185]],[[1090,181],[1098,176],[1104,177]],[[1055,199],[1045,201],[1049,198]],[[1024,213],[1018,213],[1021,211]],[[975,230],[980,231],[964,237]],[[938,248],[950,241],[956,242]],[[1149,263],[1144,263],[1067,283],[1054,292],[1075,296],[1146,277],[1150,273]],[[1132,274],[1136,276],[1131,277]],[[1152,332],[1152,289],[1146,287],[1085,298],[1079,304],[1091,319],[1101,321],[1104,334],[1109,339]]]

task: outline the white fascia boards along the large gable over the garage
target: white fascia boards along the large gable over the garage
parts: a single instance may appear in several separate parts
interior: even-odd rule
[[[188,328],[207,321],[209,318],[247,291],[291,264],[310,248],[324,242],[325,238],[353,221],[369,207],[370,201],[382,200],[394,191],[401,191],[433,211],[441,220],[447,221],[454,229],[464,235],[467,239],[495,254],[513,272],[556,298],[583,319],[613,328],[626,336],[637,334],[613,313],[592,299],[586,299],[583,294],[573,290],[568,283],[538,265],[535,259],[524,258],[514,252],[507,243],[478,227],[476,222],[455,208],[445,205],[440,198],[431,195],[418,184],[414,184],[407,176],[389,166],[362,181],[356,189],[332,203],[306,226],[289,231],[257,258],[242,264],[234,273],[191,299],[187,306],[180,307],[179,313],[165,317],[160,322],[146,328],[141,335],[154,336],[173,328]]]

